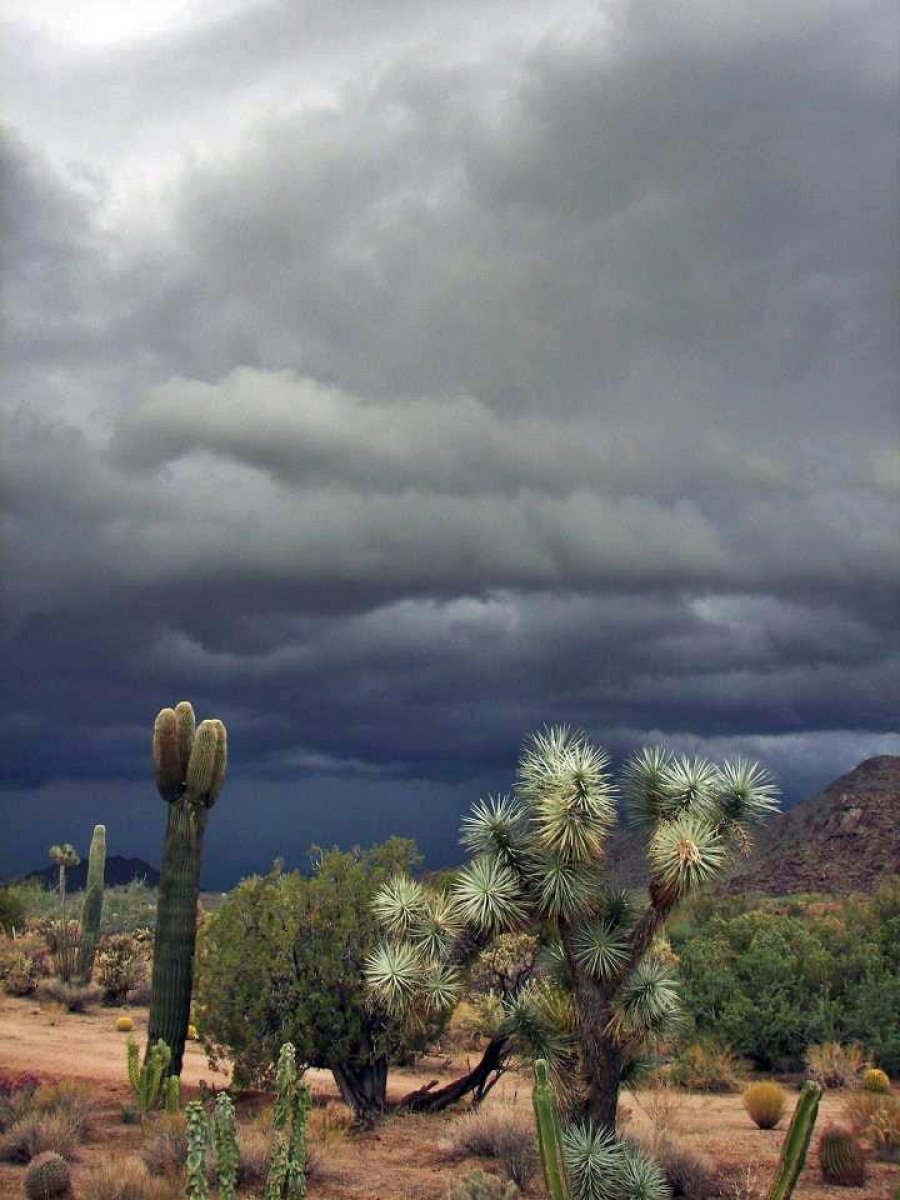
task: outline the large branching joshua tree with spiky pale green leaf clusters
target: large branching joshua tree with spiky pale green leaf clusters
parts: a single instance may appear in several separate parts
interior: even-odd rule
[[[678,1016],[666,918],[721,874],[749,827],[776,809],[778,791],[743,758],[719,767],[659,748],[630,758],[620,791],[629,822],[646,835],[649,871],[638,904],[606,870],[619,792],[607,764],[583,733],[530,737],[515,793],[480,800],[463,822],[472,858],[442,919],[412,880],[383,889],[376,904],[388,940],[367,978],[395,1014],[449,1006],[456,968],[475,947],[504,931],[538,932],[550,968],[509,1004],[506,1030],[557,1068],[575,1114],[614,1128],[623,1076]]]

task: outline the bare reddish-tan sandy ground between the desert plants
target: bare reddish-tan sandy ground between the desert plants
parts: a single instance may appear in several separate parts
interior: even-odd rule
[[[97,1008],[88,1014],[70,1014],[56,1006],[40,1006],[28,1000],[0,997],[0,1070],[29,1070],[43,1079],[82,1079],[95,1085],[101,1105],[100,1135],[80,1151],[73,1178],[78,1195],[79,1178],[94,1163],[109,1156],[136,1153],[140,1129],[121,1122],[121,1106],[128,1099],[125,1081],[126,1036],[116,1033],[119,1009]],[[146,1009],[131,1009],[138,1038],[146,1030]],[[458,1064],[462,1066],[462,1064]],[[391,1074],[390,1094],[396,1098],[426,1079],[442,1078],[446,1064],[430,1061],[418,1073]],[[330,1074],[310,1073],[313,1092],[320,1098],[336,1097]],[[449,1076],[448,1076],[449,1078]],[[182,1082],[190,1094],[200,1080],[223,1087],[228,1076],[212,1072],[196,1044],[188,1044]],[[247,1099],[246,1104],[252,1104]],[[827,1093],[820,1126],[838,1118],[840,1093]],[[523,1075],[506,1075],[486,1104],[504,1104],[529,1111],[530,1087]],[[239,1104],[239,1117],[241,1111]],[[626,1097],[626,1127],[640,1132],[650,1123],[653,1099]],[[659,1120],[659,1114],[655,1114]],[[703,1150],[715,1163],[738,1166],[757,1186],[772,1176],[784,1129],[763,1132],[749,1121],[739,1097],[678,1093],[674,1111],[665,1120],[673,1133]],[[310,1200],[442,1200],[448,1181],[473,1166],[490,1166],[473,1159],[452,1159],[443,1145],[450,1115],[438,1117],[397,1116],[374,1130],[330,1138],[319,1154],[317,1178],[310,1186]],[[22,1196],[23,1169],[0,1164],[0,1198]],[[815,1153],[794,1196],[797,1200],[892,1200],[900,1186],[900,1168],[872,1163],[865,1189],[826,1187],[818,1177]],[[528,1196],[542,1195],[535,1182]],[[739,1200],[739,1198],[736,1198]]]

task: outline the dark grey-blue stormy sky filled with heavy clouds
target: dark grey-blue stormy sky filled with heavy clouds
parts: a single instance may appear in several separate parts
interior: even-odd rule
[[[12,0],[0,874],[458,857],[526,733],[900,752],[890,0]]]

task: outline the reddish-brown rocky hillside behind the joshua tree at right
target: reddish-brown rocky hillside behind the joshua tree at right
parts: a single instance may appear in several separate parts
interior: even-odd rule
[[[641,834],[619,829],[608,862],[620,883],[646,886]],[[878,755],[767,821],[715,892],[848,895],[874,892],[889,875],[900,875],[900,756]]]

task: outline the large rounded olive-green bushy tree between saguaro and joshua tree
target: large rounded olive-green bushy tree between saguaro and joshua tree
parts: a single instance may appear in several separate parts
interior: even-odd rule
[[[311,876],[245,880],[204,923],[197,1027],[208,1054],[232,1057],[238,1084],[271,1078],[290,1042],[298,1061],[331,1069],[360,1111],[383,1106],[390,1052],[413,1039],[374,1010],[362,968],[379,937],[372,896],[413,859],[403,839],[319,852]]]

